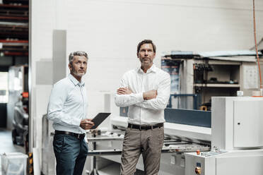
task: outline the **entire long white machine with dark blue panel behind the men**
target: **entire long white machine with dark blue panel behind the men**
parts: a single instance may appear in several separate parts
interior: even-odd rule
[[[262,107],[262,97],[212,97],[212,111],[165,109],[159,174],[263,174]],[[96,143],[90,156],[119,163],[127,117],[112,116],[111,123],[119,130],[88,138]],[[144,169],[141,158],[136,169]]]

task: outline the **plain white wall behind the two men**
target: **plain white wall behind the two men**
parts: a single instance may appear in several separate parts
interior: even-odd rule
[[[247,0],[34,0],[31,3],[32,114],[36,120],[46,110],[48,96],[37,99],[45,88],[35,84],[35,63],[42,58],[52,59],[54,29],[67,30],[67,55],[76,50],[89,54],[85,78],[88,116],[103,111],[104,93],[115,92],[122,74],[139,66],[136,45],[141,40],[156,43],[157,66],[165,51],[238,50],[254,45],[252,1]],[[263,37],[263,23],[259,23],[263,20],[263,1],[256,0],[256,10],[259,40]],[[46,91],[48,94],[49,89]]]

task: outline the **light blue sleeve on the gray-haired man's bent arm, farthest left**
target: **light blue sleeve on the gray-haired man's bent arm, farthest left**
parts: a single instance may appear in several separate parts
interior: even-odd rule
[[[60,123],[63,126],[79,126],[81,119],[71,117],[63,111],[64,102],[67,97],[66,86],[63,84],[55,84],[49,97],[47,107],[47,119],[54,123]]]

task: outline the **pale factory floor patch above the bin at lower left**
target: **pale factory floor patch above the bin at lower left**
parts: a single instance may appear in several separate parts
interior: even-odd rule
[[[0,155],[10,152],[22,152],[25,153],[25,149],[22,146],[13,145],[11,131],[6,128],[0,128]],[[0,175],[1,175],[1,159],[0,159]]]

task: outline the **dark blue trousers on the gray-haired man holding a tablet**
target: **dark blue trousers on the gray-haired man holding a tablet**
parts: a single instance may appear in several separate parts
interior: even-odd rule
[[[57,160],[57,175],[81,175],[88,146],[84,139],[71,135],[56,134],[53,140],[54,154]]]

